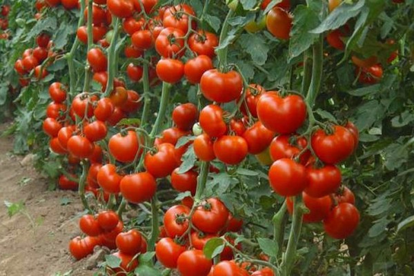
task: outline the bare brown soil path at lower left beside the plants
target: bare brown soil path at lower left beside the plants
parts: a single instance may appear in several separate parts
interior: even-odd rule
[[[0,133],[6,127],[0,125]],[[80,234],[77,193],[48,191],[48,179],[11,150],[12,139],[0,137],[0,276],[94,275],[85,268],[87,259],[75,262],[68,251]],[[9,217],[5,201],[24,206]]]

